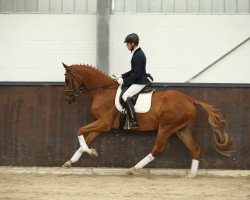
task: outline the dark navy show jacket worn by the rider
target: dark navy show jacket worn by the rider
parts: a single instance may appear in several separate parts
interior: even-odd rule
[[[136,49],[131,59],[131,70],[122,74],[123,84],[146,85],[150,81],[146,73],[146,56],[141,48]]]

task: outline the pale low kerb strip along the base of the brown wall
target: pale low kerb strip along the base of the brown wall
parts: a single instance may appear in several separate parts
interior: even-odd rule
[[[64,169],[61,167],[9,167],[1,166],[0,174],[81,174],[81,175],[127,175],[127,168],[84,168],[72,167]],[[145,168],[138,171],[139,175],[173,175],[186,176],[190,169],[155,169]],[[229,176],[229,177],[247,177],[250,176],[250,170],[224,170],[224,169],[200,169],[199,176]]]

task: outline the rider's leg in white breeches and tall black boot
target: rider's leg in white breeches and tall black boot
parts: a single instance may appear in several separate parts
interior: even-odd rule
[[[131,97],[134,96],[135,94],[139,93],[144,87],[145,87],[145,85],[133,84],[122,95],[122,99],[125,102],[126,109],[127,109],[128,116],[129,116],[129,127],[130,128],[137,128],[137,126],[138,126],[137,122],[136,122],[135,108],[134,108],[134,105],[131,101]]]

